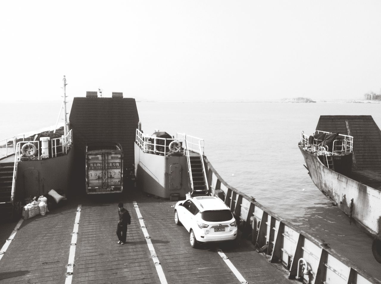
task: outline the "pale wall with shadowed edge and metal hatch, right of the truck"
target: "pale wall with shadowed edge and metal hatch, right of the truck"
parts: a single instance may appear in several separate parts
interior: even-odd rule
[[[189,192],[185,156],[145,153],[135,143],[136,184],[144,192],[162,198],[185,197]]]

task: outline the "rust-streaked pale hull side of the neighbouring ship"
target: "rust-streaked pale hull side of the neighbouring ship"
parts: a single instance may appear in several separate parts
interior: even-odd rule
[[[349,216],[353,198],[352,218],[371,235],[380,232],[381,192],[327,168],[315,155],[301,152],[315,186]]]

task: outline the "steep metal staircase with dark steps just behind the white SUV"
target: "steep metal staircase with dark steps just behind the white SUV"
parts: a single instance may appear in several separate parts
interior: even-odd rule
[[[208,195],[208,189],[205,182],[204,167],[200,155],[189,156],[191,168],[189,175],[192,176],[193,186],[191,196]]]

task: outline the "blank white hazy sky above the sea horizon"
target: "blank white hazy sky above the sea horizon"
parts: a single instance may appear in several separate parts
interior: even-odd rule
[[[1,100],[362,98],[381,1],[2,1]],[[0,102],[1,104],[1,102]]]

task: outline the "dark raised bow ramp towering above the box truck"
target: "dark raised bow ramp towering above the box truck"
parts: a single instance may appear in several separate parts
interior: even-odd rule
[[[85,155],[86,143],[120,143],[125,167],[134,163],[135,131],[139,122],[134,98],[76,97],[70,111],[75,151]]]

